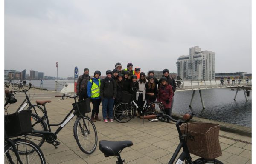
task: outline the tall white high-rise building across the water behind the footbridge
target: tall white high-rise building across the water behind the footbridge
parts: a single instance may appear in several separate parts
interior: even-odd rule
[[[182,79],[215,78],[215,52],[201,51],[198,46],[189,48],[189,55],[180,56],[176,65]]]

